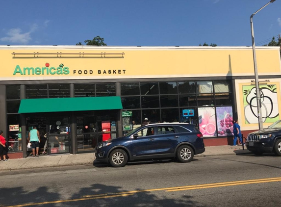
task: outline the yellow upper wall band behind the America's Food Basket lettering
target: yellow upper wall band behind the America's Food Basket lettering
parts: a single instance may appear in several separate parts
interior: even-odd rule
[[[39,52],[34,55],[16,54]],[[101,53],[122,55],[41,55],[41,52]],[[259,75],[281,75],[278,47],[256,48]],[[37,56],[37,55],[36,55]],[[81,47],[81,46],[0,46],[0,80],[102,79],[102,78],[178,78],[254,75],[251,47]],[[69,68],[67,75],[13,75],[17,65],[25,67]],[[78,74],[81,70],[82,74]],[[98,71],[101,71],[101,74]],[[108,74],[108,71],[117,74]],[[120,74],[118,74],[120,70]],[[76,71],[76,73],[74,73]],[[87,75],[83,72],[87,71]],[[92,74],[89,75],[90,71]],[[104,73],[106,72],[106,74]],[[104,73],[104,74],[103,74]]]

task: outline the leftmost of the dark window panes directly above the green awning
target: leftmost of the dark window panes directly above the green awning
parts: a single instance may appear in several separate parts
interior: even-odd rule
[[[26,85],[26,99],[44,99],[48,98],[48,86],[43,85]]]

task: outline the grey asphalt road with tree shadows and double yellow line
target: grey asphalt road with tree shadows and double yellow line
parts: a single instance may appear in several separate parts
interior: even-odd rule
[[[224,155],[0,171],[0,206],[277,207],[281,157]]]

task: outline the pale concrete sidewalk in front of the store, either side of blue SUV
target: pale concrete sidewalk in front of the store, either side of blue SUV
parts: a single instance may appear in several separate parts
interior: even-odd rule
[[[249,154],[249,150],[242,146],[214,146],[205,147],[203,154],[195,155],[194,157],[213,156],[213,155],[238,155]],[[27,157],[21,159],[9,159],[8,162],[0,161],[1,170],[22,170],[32,168],[46,168],[46,167],[62,167],[62,166],[74,166],[74,165],[93,165],[95,155],[78,154],[78,155],[41,155],[39,157]]]

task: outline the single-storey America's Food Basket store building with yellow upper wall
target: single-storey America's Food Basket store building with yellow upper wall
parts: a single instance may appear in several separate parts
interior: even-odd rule
[[[266,127],[280,119],[280,49],[256,53]],[[93,153],[145,118],[196,124],[206,146],[231,144],[233,118],[244,136],[258,129],[251,47],[0,46],[0,56],[12,158],[29,155],[33,126],[48,155]]]

